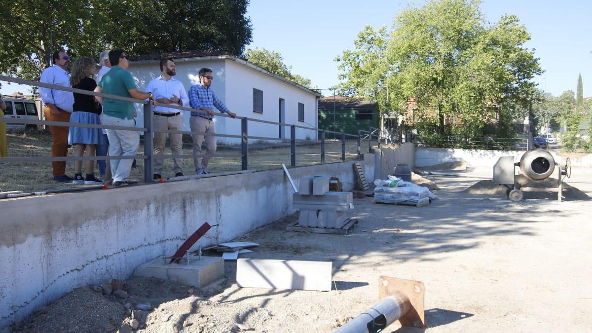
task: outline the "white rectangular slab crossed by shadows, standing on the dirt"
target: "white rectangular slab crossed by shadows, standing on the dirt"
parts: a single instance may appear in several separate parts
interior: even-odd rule
[[[332,262],[239,259],[236,284],[268,289],[331,290]]]

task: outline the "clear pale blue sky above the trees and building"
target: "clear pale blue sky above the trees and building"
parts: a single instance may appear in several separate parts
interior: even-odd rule
[[[394,17],[410,4],[397,0],[251,0],[247,16],[252,21],[253,41],[248,47],[279,52],[292,72],[310,79],[313,87],[329,88],[339,82],[335,57],[353,49],[359,31],[365,25],[391,27]],[[515,14],[526,26],[532,35],[526,46],[535,49],[545,70],[534,79],[539,88],[553,95],[575,91],[581,73],[584,97],[592,96],[592,1],[484,0],[481,9],[491,23],[504,14]],[[26,92],[26,88],[7,84],[0,88],[2,94],[14,91]]]

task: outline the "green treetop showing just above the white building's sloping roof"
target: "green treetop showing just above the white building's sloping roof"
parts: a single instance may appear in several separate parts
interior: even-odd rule
[[[278,52],[267,49],[247,49],[244,53],[244,60],[299,85],[311,88],[310,80],[292,73],[292,66],[286,65],[284,58]]]

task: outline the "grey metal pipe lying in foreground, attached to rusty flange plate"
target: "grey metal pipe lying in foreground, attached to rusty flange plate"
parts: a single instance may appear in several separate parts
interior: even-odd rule
[[[409,309],[411,309],[411,303],[407,296],[395,293],[353,318],[334,333],[381,332],[388,325],[404,316]]]

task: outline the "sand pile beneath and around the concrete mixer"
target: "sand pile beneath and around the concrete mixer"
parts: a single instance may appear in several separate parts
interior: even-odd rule
[[[542,181],[532,181],[523,175],[516,175],[516,181],[522,185],[522,193],[525,198],[556,198],[556,191],[552,188],[557,187],[557,178],[547,178]],[[529,191],[529,188],[549,188],[548,191]],[[476,182],[469,188],[466,188],[465,192],[470,194],[488,194],[496,196],[506,196],[508,188],[504,185],[498,185],[491,180],[482,180]],[[563,183],[563,196],[569,200],[590,200],[587,194],[579,190],[576,187]]]

